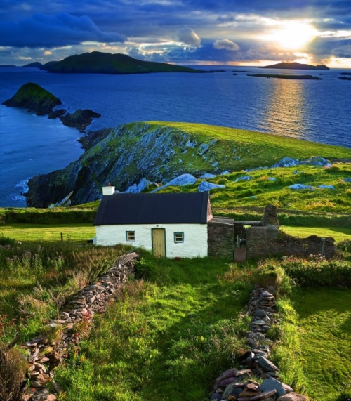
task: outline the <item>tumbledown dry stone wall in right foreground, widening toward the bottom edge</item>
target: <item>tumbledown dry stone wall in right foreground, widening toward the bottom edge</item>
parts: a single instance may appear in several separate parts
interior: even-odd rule
[[[274,289],[256,287],[251,293],[248,313],[251,315],[246,344],[249,350],[241,358],[240,369],[228,369],[215,381],[211,401],[305,401],[304,395],[279,379],[279,367],[270,361],[273,341],[267,331],[276,321]],[[255,380],[263,379],[261,383]]]

